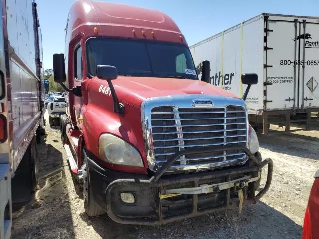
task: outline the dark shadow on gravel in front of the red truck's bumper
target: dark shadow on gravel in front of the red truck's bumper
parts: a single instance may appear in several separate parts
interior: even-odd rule
[[[92,224],[93,229],[104,239],[142,238],[300,238],[302,227],[289,217],[263,202],[245,206],[238,216],[237,211],[228,210],[163,226],[121,225],[107,215],[81,218]],[[258,228],[258,230],[253,230]],[[224,236],[225,237],[225,236]]]

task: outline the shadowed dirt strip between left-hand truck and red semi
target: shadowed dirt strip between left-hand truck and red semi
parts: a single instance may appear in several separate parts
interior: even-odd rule
[[[33,199],[15,213],[12,239],[74,238],[61,142],[38,145],[39,186]],[[68,170],[68,169],[66,169]]]

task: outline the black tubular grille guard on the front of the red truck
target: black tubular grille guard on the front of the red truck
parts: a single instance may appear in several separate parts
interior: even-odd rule
[[[240,202],[236,199],[230,199],[230,189],[228,190],[225,196],[225,203],[224,205],[217,206],[212,209],[205,209],[202,211],[198,211],[198,194],[192,195],[192,210],[191,213],[184,214],[184,215],[178,215],[168,218],[163,218],[162,212],[161,212],[161,200],[159,199],[158,204],[158,218],[157,219],[143,219],[143,218],[123,218],[119,217],[114,214],[111,208],[111,191],[114,187],[117,185],[123,185],[123,184],[140,184],[146,187],[158,187],[163,189],[163,186],[175,184],[175,183],[185,183],[185,182],[193,182],[194,187],[198,186],[198,181],[201,179],[216,179],[221,177],[227,177],[227,176],[236,176],[238,174],[243,173],[256,173],[261,171],[263,167],[268,165],[268,172],[267,172],[267,180],[265,183],[265,187],[257,194],[255,195],[255,190],[253,190],[253,193],[249,199],[245,199],[242,203],[242,205],[247,204],[253,204],[256,203],[270,188],[270,184],[272,181],[272,175],[273,175],[273,161],[270,158],[267,158],[263,160],[262,162],[258,162],[258,159],[254,154],[252,154],[248,148],[245,147],[222,147],[223,150],[242,150],[244,151],[248,156],[248,164],[251,164],[250,166],[244,166],[240,168],[232,168],[232,169],[225,169],[220,170],[218,172],[202,172],[194,175],[174,175],[170,176],[169,178],[162,178],[165,171],[177,160],[181,155],[187,155],[187,154],[193,154],[196,152],[215,152],[220,150],[220,148],[214,148],[214,149],[192,149],[192,150],[184,150],[175,153],[171,158],[163,165],[162,168],[160,168],[159,171],[157,171],[154,176],[152,176],[149,180],[136,180],[136,179],[118,179],[113,181],[111,184],[109,184],[108,188],[106,189],[106,195],[105,195],[105,201],[106,201],[106,211],[109,217],[122,224],[138,224],[138,225],[162,225],[165,223],[170,223],[178,220],[183,220],[187,218],[192,218],[195,216],[205,215],[208,213],[213,213],[220,210],[230,209],[230,208],[241,208]]]

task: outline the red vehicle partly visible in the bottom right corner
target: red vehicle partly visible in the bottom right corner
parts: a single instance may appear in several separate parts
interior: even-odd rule
[[[319,170],[315,174],[315,181],[310,191],[303,228],[303,239],[317,238],[319,238]]]

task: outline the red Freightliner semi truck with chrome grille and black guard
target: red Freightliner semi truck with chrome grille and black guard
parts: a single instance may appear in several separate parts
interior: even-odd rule
[[[65,39],[65,55],[53,56],[54,80],[67,80],[70,92],[61,138],[89,216],[158,225],[241,211],[266,193],[272,160],[262,161],[245,101],[207,83],[207,61],[198,79],[170,17],[80,0]],[[245,99],[257,75],[245,73],[242,82]]]

